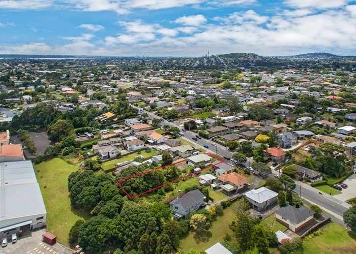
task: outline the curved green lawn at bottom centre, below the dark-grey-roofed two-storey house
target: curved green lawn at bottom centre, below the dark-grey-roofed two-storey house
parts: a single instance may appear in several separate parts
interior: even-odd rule
[[[236,211],[236,203],[226,209],[221,216],[217,216],[212,222],[212,227],[209,231],[202,232],[199,235],[189,232],[187,235],[181,238],[180,247],[184,251],[190,249],[194,250],[205,250],[210,246],[214,245],[217,242],[221,242],[226,233],[232,234],[232,231],[229,229],[229,224],[231,224],[234,219]]]

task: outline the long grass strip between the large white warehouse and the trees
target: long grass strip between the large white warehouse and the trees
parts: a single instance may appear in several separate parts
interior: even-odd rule
[[[68,164],[60,158],[35,165],[47,210],[47,230],[56,235],[58,241],[67,245],[68,233],[75,221],[89,218],[88,214],[73,209],[68,197],[68,176],[77,170],[78,165]]]

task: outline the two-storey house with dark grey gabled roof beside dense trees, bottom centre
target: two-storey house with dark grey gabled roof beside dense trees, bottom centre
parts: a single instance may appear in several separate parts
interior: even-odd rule
[[[200,190],[194,189],[181,198],[171,201],[170,209],[175,217],[188,219],[192,211],[196,211],[204,202],[205,195]]]

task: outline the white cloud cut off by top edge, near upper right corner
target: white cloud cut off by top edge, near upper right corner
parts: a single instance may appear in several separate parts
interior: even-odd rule
[[[292,8],[331,9],[347,5],[351,0],[285,0],[284,3]]]

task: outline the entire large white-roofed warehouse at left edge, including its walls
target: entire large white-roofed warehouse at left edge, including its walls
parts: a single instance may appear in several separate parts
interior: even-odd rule
[[[46,225],[47,212],[31,161],[0,163],[0,238]]]

